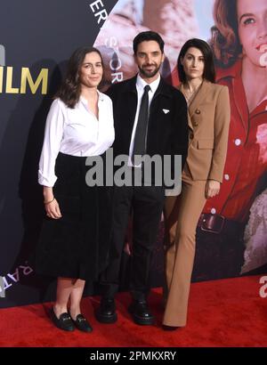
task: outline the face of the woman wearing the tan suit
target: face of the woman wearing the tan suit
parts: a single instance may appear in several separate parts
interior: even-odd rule
[[[203,78],[205,60],[203,53],[198,48],[190,47],[181,60],[186,77],[191,80]]]

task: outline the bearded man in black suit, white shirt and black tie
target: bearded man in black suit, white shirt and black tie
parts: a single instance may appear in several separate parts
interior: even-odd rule
[[[133,184],[116,186],[115,183],[113,244],[117,258],[101,275],[102,297],[96,318],[102,323],[117,320],[114,296],[118,288],[121,255],[131,213],[134,234],[130,289],[133,302],[129,312],[137,324],[153,323],[147,296],[150,290],[151,257],[165,201],[165,185],[162,183],[157,186],[152,174],[150,186],[147,186],[144,182],[145,164],[138,161],[138,157],[158,155],[163,159],[169,155],[174,159],[175,155],[182,155],[183,167],[188,149],[186,101],[182,93],[167,85],[160,77],[159,69],[164,57],[164,41],[158,33],[140,33],[134,38],[134,59],[139,69],[138,75],[111,85],[107,92],[114,108],[114,157],[128,156],[127,165],[133,176]],[[134,185],[136,174],[142,176],[142,186]]]

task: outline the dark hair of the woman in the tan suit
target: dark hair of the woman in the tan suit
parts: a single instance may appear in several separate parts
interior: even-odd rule
[[[214,68],[214,55],[210,46],[203,41],[202,39],[192,38],[188,40],[184,45],[182,45],[182,49],[180,51],[178,60],[177,60],[177,69],[180,81],[182,83],[186,82],[186,75],[182,67],[182,59],[185,56],[185,53],[190,49],[190,47],[198,48],[199,51],[203,53],[204,56],[204,72],[203,78],[214,83],[215,82],[215,68]]]

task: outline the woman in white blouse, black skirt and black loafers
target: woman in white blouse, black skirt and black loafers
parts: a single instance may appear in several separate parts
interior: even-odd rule
[[[101,156],[114,141],[112,102],[98,91],[101,53],[81,47],[48,113],[38,181],[46,216],[36,250],[36,271],[57,277],[53,323],[91,332],[81,314],[85,280],[93,282],[109,258],[111,193],[87,186],[85,159]]]

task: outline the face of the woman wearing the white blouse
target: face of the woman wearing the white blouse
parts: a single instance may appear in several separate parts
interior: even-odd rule
[[[96,52],[86,53],[81,66],[80,82],[85,87],[97,87],[101,83],[103,67],[101,57]]]

